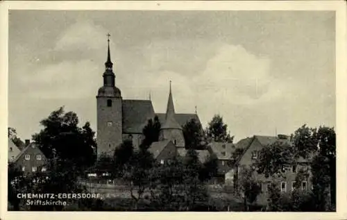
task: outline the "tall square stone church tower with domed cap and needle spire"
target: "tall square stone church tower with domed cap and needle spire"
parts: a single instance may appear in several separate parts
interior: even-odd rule
[[[103,86],[96,96],[97,154],[113,155],[122,142],[121,90],[115,86],[115,74],[110,56],[110,34],[108,34],[108,57],[103,73]]]

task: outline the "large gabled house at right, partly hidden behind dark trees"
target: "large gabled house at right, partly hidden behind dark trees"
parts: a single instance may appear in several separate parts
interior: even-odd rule
[[[239,184],[237,182],[239,179],[238,176],[241,174],[242,169],[244,167],[250,167],[251,169],[255,169],[255,167],[253,167],[253,162],[257,160],[260,151],[264,147],[267,147],[275,142],[285,142],[287,144],[291,144],[289,137],[285,135],[278,135],[278,137],[255,135],[252,138],[248,137],[247,139],[242,139],[240,142],[242,142],[242,145],[247,145],[244,150],[244,153],[239,157],[237,162],[235,162],[235,187],[237,187],[237,184]],[[284,193],[292,192],[292,190],[294,189],[294,183],[298,170],[309,168],[309,161],[303,158],[299,158],[297,164],[297,166],[293,167],[283,167],[283,177],[278,176],[276,178],[265,178],[263,174],[257,174],[257,172],[255,171],[256,179],[259,182],[258,185],[262,189],[262,194],[258,196],[257,203],[261,205],[265,205],[267,203],[267,198],[269,196],[268,189],[270,183],[278,184],[278,188]],[[301,188],[305,190],[309,189],[309,187],[312,187],[309,182],[310,180],[303,181]]]

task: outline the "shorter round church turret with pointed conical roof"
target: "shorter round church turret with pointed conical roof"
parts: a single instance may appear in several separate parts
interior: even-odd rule
[[[169,139],[176,146],[184,147],[185,146],[185,137],[183,136],[183,129],[178,124],[175,118],[175,108],[174,100],[172,99],[171,92],[171,81],[170,81],[170,91],[169,91],[169,100],[167,101],[167,114],[165,117],[165,122],[160,128],[159,140]]]

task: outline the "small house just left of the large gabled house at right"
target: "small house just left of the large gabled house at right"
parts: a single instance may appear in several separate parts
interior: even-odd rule
[[[215,155],[218,160],[217,175],[212,178],[212,184],[225,184],[232,182],[234,176],[228,176],[228,172],[234,166],[232,154],[235,152],[235,145],[228,142],[210,142],[208,150]]]

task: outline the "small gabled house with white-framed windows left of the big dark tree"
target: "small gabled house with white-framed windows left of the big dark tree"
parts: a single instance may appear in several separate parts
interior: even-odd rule
[[[36,171],[46,171],[46,167],[44,167],[46,161],[46,156],[35,142],[28,144],[14,160],[16,167],[21,169],[25,175],[33,174]]]

